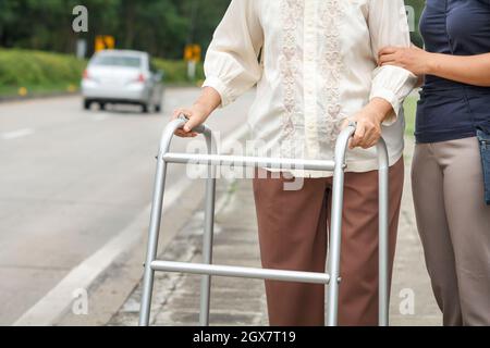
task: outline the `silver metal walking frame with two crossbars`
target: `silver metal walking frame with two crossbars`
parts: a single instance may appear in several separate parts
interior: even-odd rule
[[[345,156],[348,140],[355,133],[355,125],[351,124],[339,136],[335,146],[334,160],[292,160],[274,158],[252,158],[217,154],[215,136],[210,128],[201,125],[194,132],[206,138],[208,154],[186,154],[169,152],[170,145],[176,129],[187,122],[185,116],[172,121],[164,129],[158,154],[158,166],[155,182],[155,196],[149,226],[148,250],[145,263],[143,283],[143,298],[139,313],[139,325],[148,326],[150,319],[154,276],[156,271],[201,275],[200,284],[200,315],[199,324],[209,325],[209,307],[211,291],[211,276],[241,277],[255,279],[271,279],[280,282],[324,284],[328,286],[328,326],[338,325],[339,286],[342,281],[340,274],[341,240],[342,240],[342,209],[344,196],[344,175],[346,170]],[[389,160],[383,139],[377,145],[379,162],[379,325],[389,325],[389,276],[388,276],[388,220],[389,220]],[[208,166],[208,178],[205,198],[205,226],[203,263],[184,263],[158,261],[158,238],[162,216],[162,206],[167,169],[170,163],[198,164]],[[236,167],[281,167],[289,170],[333,171],[332,219],[330,226],[330,250],[328,273],[296,272],[285,270],[266,270],[241,266],[212,264],[212,244],[215,225],[216,200],[216,169],[217,166],[234,165]],[[355,257],[355,256],[352,256]]]

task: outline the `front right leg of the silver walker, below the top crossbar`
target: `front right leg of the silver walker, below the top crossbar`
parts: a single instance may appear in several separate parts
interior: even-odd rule
[[[341,165],[335,169],[332,192],[332,217],[330,226],[329,273],[330,283],[328,291],[328,326],[338,326],[339,316],[339,285],[341,245],[342,245],[342,209],[344,202],[344,171]]]

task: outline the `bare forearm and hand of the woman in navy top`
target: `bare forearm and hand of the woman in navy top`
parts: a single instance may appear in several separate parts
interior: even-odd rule
[[[490,87],[490,53],[463,57],[430,53],[417,47],[385,47],[379,52],[379,63],[381,66],[404,67],[416,75],[433,75]]]

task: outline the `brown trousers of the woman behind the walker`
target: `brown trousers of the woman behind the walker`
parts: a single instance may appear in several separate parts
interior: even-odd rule
[[[306,178],[303,189],[284,190],[294,179],[258,174],[254,194],[264,268],[326,272],[332,178]],[[400,160],[390,169],[391,268],[403,181]],[[342,233],[339,324],[377,325],[378,172],[346,174]],[[267,281],[266,293],[270,325],[324,325],[323,285]]]

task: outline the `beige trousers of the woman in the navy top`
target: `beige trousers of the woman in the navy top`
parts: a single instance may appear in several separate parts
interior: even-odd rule
[[[477,139],[417,145],[412,176],[444,325],[490,325],[490,207]]]

